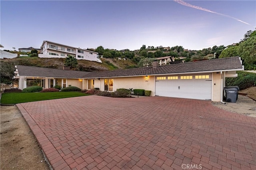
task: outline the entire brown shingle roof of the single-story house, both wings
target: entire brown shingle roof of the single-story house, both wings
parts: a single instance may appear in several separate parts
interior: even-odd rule
[[[168,73],[186,73],[202,72],[214,70],[242,70],[242,64],[239,57],[229,57],[223,59],[196,61],[190,63],[170,64],[164,66],[131,68],[125,70],[113,70],[104,72],[84,72],[74,70],[60,70],[54,68],[43,68],[34,66],[18,65],[20,76],[38,76],[38,77],[63,77],[63,78],[104,78],[104,77],[123,77],[139,76],[150,74],[168,74]]]

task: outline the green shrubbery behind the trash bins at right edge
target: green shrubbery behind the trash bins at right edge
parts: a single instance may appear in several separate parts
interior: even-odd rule
[[[238,86],[240,90],[255,86],[256,74],[252,72],[239,71],[238,77],[226,78],[226,86]]]

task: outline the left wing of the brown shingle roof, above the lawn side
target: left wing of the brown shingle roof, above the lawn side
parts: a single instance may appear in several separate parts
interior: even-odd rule
[[[17,65],[20,76],[82,78],[90,72]]]

